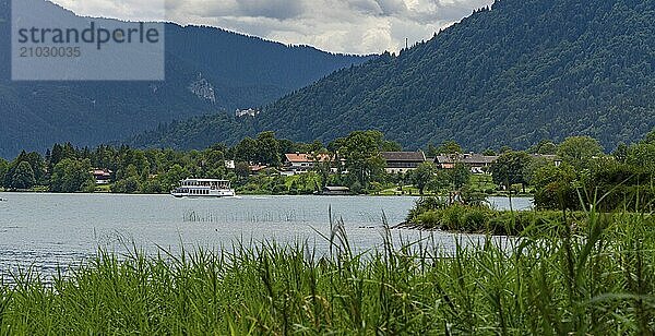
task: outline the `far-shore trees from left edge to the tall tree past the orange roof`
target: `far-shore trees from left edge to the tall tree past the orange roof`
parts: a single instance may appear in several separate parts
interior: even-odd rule
[[[329,149],[330,148],[330,149]],[[286,153],[313,153],[317,166],[313,175],[319,182],[308,190],[309,181],[295,181],[297,192],[315,191],[330,184],[347,184],[358,191],[383,182],[384,160],[381,151],[400,151],[401,146],[384,140],[380,132],[354,132],[337,139],[327,146],[320,142],[295,143],[277,139],[273,132],[246,137],[233,147],[216,144],[203,151],[135,149],[128,146],[98,146],[95,149],[76,148],[71,144],[56,144],[44,156],[38,153],[21,153],[14,160],[0,160],[0,187],[9,190],[41,188],[52,192],[94,191],[95,168],[111,171],[112,192],[163,193],[174,189],[180,180],[190,177],[229,179],[237,187],[248,183],[269,185],[251,177],[251,165],[266,166],[262,173],[274,181],[269,192],[281,191],[286,181],[273,179],[283,165]],[[329,154],[333,160],[322,163],[319,154]],[[341,159],[345,165],[342,166]],[[236,163],[235,169],[226,167],[226,160]],[[336,163],[340,163],[338,165]],[[336,176],[332,171],[336,170]],[[349,171],[347,173],[342,173]],[[312,180],[313,181],[313,180]],[[287,188],[288,189],[288,188]]]

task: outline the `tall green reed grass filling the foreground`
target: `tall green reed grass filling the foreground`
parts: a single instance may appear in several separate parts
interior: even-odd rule
[[[46,286],[0,289],[0,334],[648,335],[652,216],[590,213],[584,236],[541,235],[450,256],[427,243],[330,256],[306,245],[99,255]],[[552,224],[556,227],[558,224]],[[571,230],[563,228],[564,231]]]

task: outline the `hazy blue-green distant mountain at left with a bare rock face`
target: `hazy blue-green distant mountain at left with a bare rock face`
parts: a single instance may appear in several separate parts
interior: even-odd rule
[[[45,0],[35,11],[85,20]],[[55,142],[95,145],[162,122],[254,108],[370,57],[166,24],[165,82],[11,82],[11,1],[0,0],[0,157]]]

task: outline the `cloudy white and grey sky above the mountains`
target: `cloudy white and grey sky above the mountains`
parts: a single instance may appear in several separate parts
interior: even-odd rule
[[[82,15],[165,16],[347,53],[396,51],[492,0],[51,0]]]

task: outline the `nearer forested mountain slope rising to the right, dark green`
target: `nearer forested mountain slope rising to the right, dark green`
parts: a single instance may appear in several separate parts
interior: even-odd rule
[[[412,148],[450,139],[471,149],[527,147],[585,134],[611,149],[655,127],[655,1],[499,0],[398,56],[289,94],[241,128],[223,119],[162,127],[132,143],[191,147],[264,130],[332,140],[377,129]],[[214,123],[229,132],[212,132]]]

